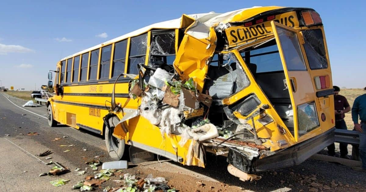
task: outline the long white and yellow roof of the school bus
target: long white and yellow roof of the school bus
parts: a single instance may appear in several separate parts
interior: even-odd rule
[[[189,34],[189,35],[191,35],[191,36],[193,36],[197,39],[204,39],[204,38],[209,36],[210,27],[212,27],[212,26],[219,25],[220,23],[242,21],[243,19],[247,19],[247,18],[250,18],[252,16],[258,15],[261,12],[275,10],[275,9],[279,9],[279,8],[283,8],[283,7],[278,7],[278,6],[258,7],[258,6],[254,6],[254,7],[250,7],[250,8],[243,8],[243,9],[240,9],[240,10],[229,11],[229,12],[226,12],[226,13],[209,12],[209,13],[191,14],[191,15],[184,15],[183,14],[182,17],[180,17],[178,19],[173,19],[173,20],[167,20],[167,21],[163,21],[163,22],[159,22],[159,23],[154,23],[152,25],[143,27],[141,29],[138,29],[138,30],[132,31],[130,33],[121,35],[119,37],[108,40],[108,41],[103,42],[101,44],[95,45],[91,48],[79,51],[77,53],[74,53],[72,55],[64,57],[61,60],[65,60],[65,59],[68,59],[68,58],[71,58],[71,57],[74,57],[74,56],[78,56],[82,53],[86,53],[86,52],[89,52],[91,50],[98,49],[101,46],[110,44],[112,42],[117,42],[117,41],[120,41],[120,40],[123,40],[123,39],[127,39],[129,37],[135,37],[137,35],[146,33],[146,32],[148,32],[152,29],[180,29],[180,28],[188,27],[192,23],[193,23],[193,25],[190,26],[190,29],[188,29],[186,31],[187,34]],[[187,18],[194,19],[194,22],[187,23],[187,20],[185,20]]]

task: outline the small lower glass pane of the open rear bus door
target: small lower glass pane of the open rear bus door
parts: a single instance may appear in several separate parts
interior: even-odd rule
[[[298,105],[297,115],[299,136],[305,135],[307,132],[319,127],[319,119],[314,101]]]

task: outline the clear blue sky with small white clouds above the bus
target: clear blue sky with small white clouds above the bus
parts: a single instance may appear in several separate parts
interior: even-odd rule
[[[0,80],[39,89],[57,61],[72,53],[182,14],[252,6],[310,7],[324,23],[333,84],[365,87],[365,1],[8,1],[0,11]]]

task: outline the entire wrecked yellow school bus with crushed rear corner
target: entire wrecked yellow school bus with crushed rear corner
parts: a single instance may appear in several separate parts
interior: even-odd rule
[[[227,157],[241,180],[296,165],[333,143],[332,76],[311,8],[182,15],[57,63],[49,125],[105,135],[184,165]]]

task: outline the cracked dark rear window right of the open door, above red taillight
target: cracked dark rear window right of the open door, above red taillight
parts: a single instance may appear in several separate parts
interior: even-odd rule
[[[328,68],[326,59],[324,38],[321,29],[310,29],[302,31],[304,37],[304,48],[310,69]]]

